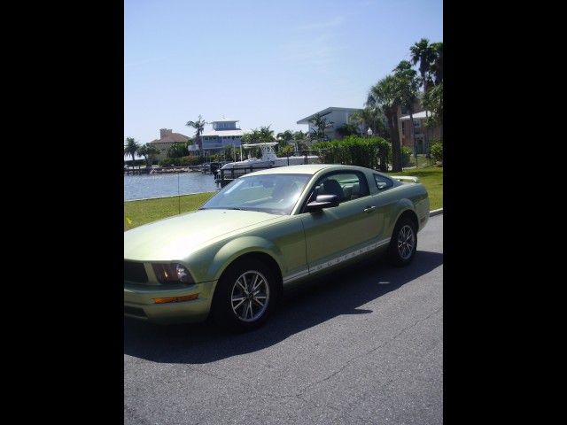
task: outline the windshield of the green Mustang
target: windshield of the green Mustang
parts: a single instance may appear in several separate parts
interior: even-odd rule
[[[237,209],[287,215],[298,202],[310,177],[305,174],[240,177],[221,189],[199,210]]]

